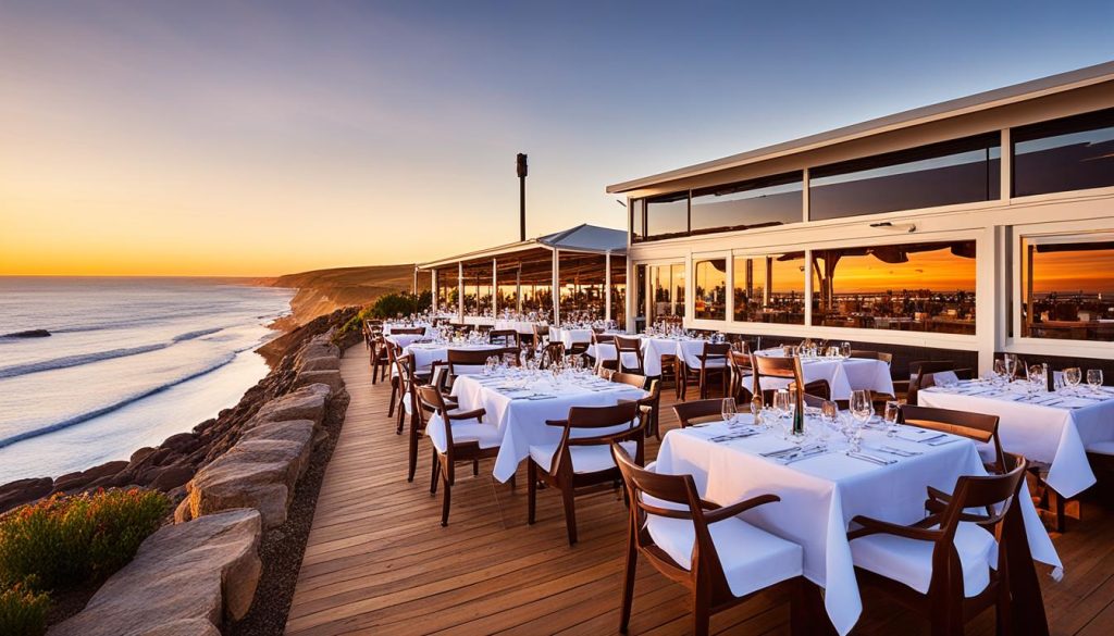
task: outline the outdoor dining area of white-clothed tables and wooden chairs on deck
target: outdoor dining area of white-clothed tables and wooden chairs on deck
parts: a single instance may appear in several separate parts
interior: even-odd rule
[[[524,540],[561,530],[535,549],[622,562],[592,633],[638,632],[642,590],[661,589],[646,570],[684,590],[681,633],[771,596],[789,600],[793,633],[877,633],[872,604],[932,634],[973,620],[1056,632],[1042,591],[1065,576],[1052,537],[1076,531],[1065,502],[1114,447],[1101,371],[1008,355],[983,375],[913,362],[907,379],[850,342],[759,348],[665,321],[641,334],[531,325],[530,339],[497,326],[367,325],[371,382],[390,391],[379,417],[407,440],[391,479],[429,480],[447,540],[494,501]],[[602,515],[622,540],[599,542]]]

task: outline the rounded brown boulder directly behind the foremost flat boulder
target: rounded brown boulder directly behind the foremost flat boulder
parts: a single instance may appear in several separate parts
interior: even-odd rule
[[[293,432],[290,436],[295,437]],[[197,471],[186,485],[186,507],[175,511],[175,520],[196,519],[232,508],[255,508],[264,528],[281,525],[286,520],[294,486],[309,463],[310,441],[309,434],[297,436],[295,441],[241,441]]]

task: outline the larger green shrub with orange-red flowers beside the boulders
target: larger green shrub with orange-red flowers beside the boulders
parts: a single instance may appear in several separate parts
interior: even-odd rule
[[[155,490],[56,495],[0,518],[0,586],[33,577],[42,589],[101,580],[158,529],[169,500]]]

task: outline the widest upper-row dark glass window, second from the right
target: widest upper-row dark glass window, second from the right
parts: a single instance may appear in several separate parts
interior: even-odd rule
[[[1000,157],[991,134],[812,168],[809,218],[996,199]]]

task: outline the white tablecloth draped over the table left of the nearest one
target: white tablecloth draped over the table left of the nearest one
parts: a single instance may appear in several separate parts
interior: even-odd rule
[[[531,390],[546,395],[547,400],[511,399],[494,387],[500,384],[483,376],[462,376],[452,385],[452,394],[461,409],[485,409],[485,422],[494,422],[502,434],[502,446],[495,460],[496,479],[507,481],[515,474],[518,464],[530,457],[530,446],[555,444],[560,441],[561,429],[546,425],[546,420],[568,418],[570,407],[610,407],[619,400],[639,400],[646,395],[641,389],[628,384],[613,383],[607,391],[561,382],[553,385],[538,381]]]

